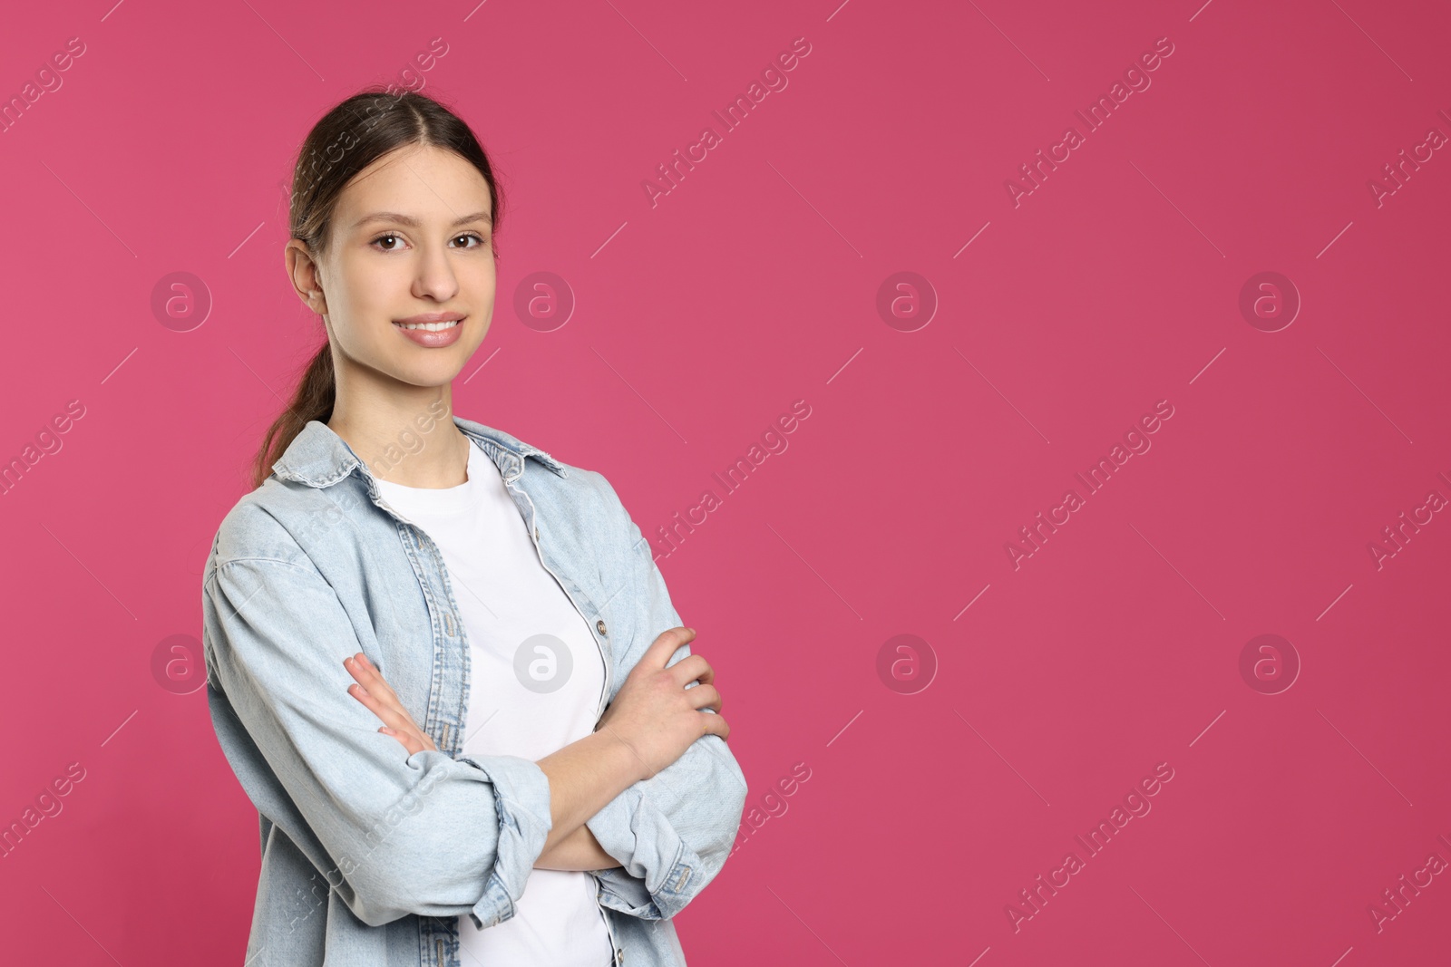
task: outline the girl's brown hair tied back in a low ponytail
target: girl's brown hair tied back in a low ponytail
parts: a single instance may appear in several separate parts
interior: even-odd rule
[[[498,231],[502,215],[499,187],[489,157],[469,125],[424,94],[364,90],[324,115],[297,151],[289,207],[292,238],[306,242],[308,251],[321,260],[328,248],[332,213],[342,188],[353,175],[380,157],[408,145],[453,151],[477,168],[489,184],[493,229]],[[492,236],[490,232],[490,245]],[[324,342],[297,381],[292,403],[263,438],[261,449],[252,462],[254,489],[263,486],[271,474],[271,465],[309,420],[326,422],[332,418],[335,389],[332,346]]]

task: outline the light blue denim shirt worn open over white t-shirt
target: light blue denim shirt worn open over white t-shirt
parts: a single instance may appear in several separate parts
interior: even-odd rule
[[[682,623],[650,545],[599,473],[453,422],[499,467],[595,629],[598,719]],[[553,825],[548,781],[528,758],[461,752],[470,663],[448,573],[367,464],[312,420],[271,470],[222,520],[202,584],[212,723],[261,823],[245,963],[461,967],[460,915],[480,928],[514,916]],[[438,751],[409,755],[377,731],[342,667],[360,651]],[[670,918],[721,871],[746,792],[730,747],[705,735],[588,821],[621,863],[591,874],[617,964],[685,964]]]

